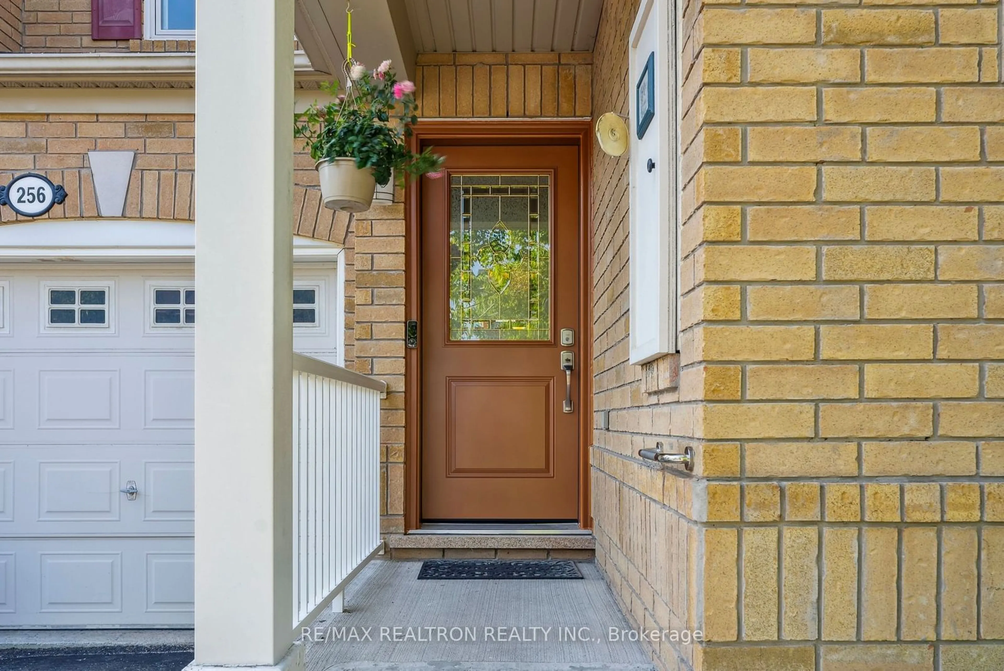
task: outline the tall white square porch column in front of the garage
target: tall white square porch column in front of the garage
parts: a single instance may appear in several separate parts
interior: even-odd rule
[[[287,668],[293,0],[197,18],[193,665]]]

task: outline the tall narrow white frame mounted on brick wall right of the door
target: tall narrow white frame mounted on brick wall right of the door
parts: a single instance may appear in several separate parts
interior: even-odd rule
[[[631,116],[628,122],[631,138],[630,174],[644,174],[649,159],[659,170],[658,213],[641,216],[638,180],[630,188],[630,300],[629,326],[632,364],[645,364],[677,351],[679,323],[679,212],[680,188],[678,157],[679,68],[677,67],[677,3],[663,0],[642,0],[629,38],[629,98]],[[639,53],[645,28],[655,22],[656,45],[655,110],[647,136],[656,134],[658,151],[655,156],[639,149],[636,120],[639,111],[636,84],[642,74],[648,54]],[[648,49],[645,49],[648,51]],[[655,263],[645,264],[643,251],[658,250]],[[649,259],[650,261],[652,259]],[[658,315],[655,319],[645,317]]]

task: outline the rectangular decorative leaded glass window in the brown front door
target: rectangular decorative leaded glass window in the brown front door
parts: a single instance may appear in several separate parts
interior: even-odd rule
[[[450,340],[549,341],[549,175],[450,178]]]

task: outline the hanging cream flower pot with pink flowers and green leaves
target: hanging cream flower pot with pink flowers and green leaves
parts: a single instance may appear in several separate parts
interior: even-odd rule
[[[344,88],[337,81],[321,86],[331,101],[315,102],[296,115],[293,134],[306,141],[317,162],[324,205],[358,213],[373,200],[394,202],[396,173],[435,174],[443,158],[429,149],[411,150],[409,139],[418,122],[415,84],[398,81],[390,60],[372,71],[349,61],[344,74]]]

